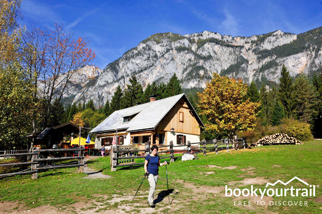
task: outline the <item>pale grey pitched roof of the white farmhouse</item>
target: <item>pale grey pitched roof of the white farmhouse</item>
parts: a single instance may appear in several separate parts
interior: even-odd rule
[[[92,129],[90,133],[112,131],[116,129],[126,129],[127,132],[154,129],[166,116],[170,109],[183,97],[186,99],[189,108],[193,109],[194,116],[198,123],[201,126],[204,126],[185,94],[179,94],[173,97],[159,99],[153,102],[115,111],[105,120],[103,120],[103,122]],[[129,122],[123,123],[124,116],[131,116],[135,114],[137,115],[134,116]]]

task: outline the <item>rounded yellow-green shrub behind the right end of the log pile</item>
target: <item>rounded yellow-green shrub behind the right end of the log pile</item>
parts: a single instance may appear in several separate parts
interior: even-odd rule
[[[281,127],[284,133],[295,137],[300,141],[309,141],[314,139],[310,130],[310,124],[308,123],[294,119],[284,119]]]

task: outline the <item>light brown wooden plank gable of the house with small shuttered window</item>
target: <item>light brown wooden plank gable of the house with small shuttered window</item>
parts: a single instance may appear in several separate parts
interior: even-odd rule
[[[156,127],[157,130],[171,131],[176,133],[200,135],[200,127],[194,115],[189,112],[187,102],[181,98],[173,108],[166,114]]]

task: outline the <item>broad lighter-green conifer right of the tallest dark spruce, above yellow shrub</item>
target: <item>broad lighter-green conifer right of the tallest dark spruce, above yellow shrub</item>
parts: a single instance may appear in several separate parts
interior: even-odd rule
[[[304,75],[294,82],[295,113],[300,121],[310,123],[317,116],[317,91]]]

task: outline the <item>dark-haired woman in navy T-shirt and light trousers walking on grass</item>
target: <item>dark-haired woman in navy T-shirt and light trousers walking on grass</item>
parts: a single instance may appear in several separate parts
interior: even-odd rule
[[[153,196],[154,191],[156,189],[156,181],[158,180],[159,167],[166,165],[166,161],[160,164],[160,157],[156,154],[156,152],[158,151],[158,147],[156,145],[153,145],[151,147],[151,151],[151,154],[148,154],[145,158],[144,170],[147,174],[147,180],[150,184],[150,191],[149,196],[147,198],[147,203],[150,205],[150,207],[154,207]]]

